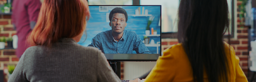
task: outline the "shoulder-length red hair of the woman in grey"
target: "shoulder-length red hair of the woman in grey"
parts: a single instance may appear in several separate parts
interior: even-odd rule
[[[44,0],[28,42],[51,47],[60,38],[73,38],[85,30],[89,17],[86,0]]]

